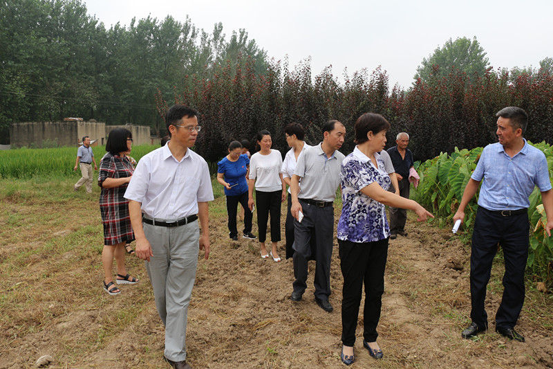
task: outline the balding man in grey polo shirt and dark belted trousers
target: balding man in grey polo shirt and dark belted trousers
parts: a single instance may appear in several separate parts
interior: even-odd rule
[[[332,312],[330,296],[330,258],[334,239],[334,208],[336,189],[340,184],[341,162],[344,154],[337,151],[346,135],[346,127],[329,120],[323,127],[323,142],[308,147],[299,156],[292,176],[290,192],[294,217],[294,291],[290,298],[300,301],[307,287],[308,260],[312,258],[310,239],[315,237],[315,301]],[[301,191],[299,181],[301,179]]]

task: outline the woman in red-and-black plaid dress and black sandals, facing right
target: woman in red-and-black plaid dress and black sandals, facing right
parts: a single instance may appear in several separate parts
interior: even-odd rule
[[[135,284],[138,279],[131,277],[125,269],[126,241],[134,240],[131,218],[129,217],[129,200],[124,198],[126,187],[133,177],[134,167],[127,156],[131,152],[133,143],[132,134],[128,129],[115,128],[109,132],[106,143],[107,154],[100,162],[98,185],[100,193],[100,213],[104,225],[104,250],[102,263],[104,264],[104,290],[110,295],[121,291],[113,285],[111,269],[113,257],[117,263],[118,284]]]

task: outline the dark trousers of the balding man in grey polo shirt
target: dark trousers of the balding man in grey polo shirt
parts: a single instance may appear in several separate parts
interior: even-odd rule
[[[332,242],[334,240],[334,208],[307,204],[299,200],[303,220],[294,219],[294,291],[301,292],[307,288],[308,260],[315,256],[315,297],[327,300],[330,296],[330,259],[332,258]],[[317,234],[315,255],[312,255],[311,235]]]

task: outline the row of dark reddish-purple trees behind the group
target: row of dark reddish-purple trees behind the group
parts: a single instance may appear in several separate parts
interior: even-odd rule
[[[245,68],[218,66],[209,80],[188,76],[185,88],[171,100],[158,90],[160,116],[174,103],[198,109],[204,129],[196,150],[208,161],[217,161],[232,140],[249,138],[268,129],[273,147],[288,150],[283,127],[297,122],[306,129],[306,141],[319,143],[326,120],[346,125],[344,153],[353,151],[355,120],[366,111],[382,114],[392,125],[388,147],[399,132],[409,132],[415,159],[426,160],[455,147],[472,149],[497,141],[495,114],[515,105],[529,114],[525,137],[534,143],[553,142],[553,73],[494,71],[491,67],[469,74],[456,66],[434,64],[431,73],[419,77],[409,89],[391,88],[381,68],[346,75],[340,84],[330,69],[312,78],[310,60],[290,70],[288,62],[269,62],[265,75],[254,73],[253,60]]]

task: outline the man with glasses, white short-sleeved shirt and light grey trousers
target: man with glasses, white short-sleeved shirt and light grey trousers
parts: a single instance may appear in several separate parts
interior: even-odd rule
[[[188,306],[196,278],[198,246],[209,258],[207,201],[213,190],[205,160],[189,150],[200,131],[198,112],[174,105],[165,116],[170,141],[142,157],[125,192],[136,237],[146,260],[158,314],[165,325],[165,360],[186,362]],[[198,229],[200,219],[202,235]]]

